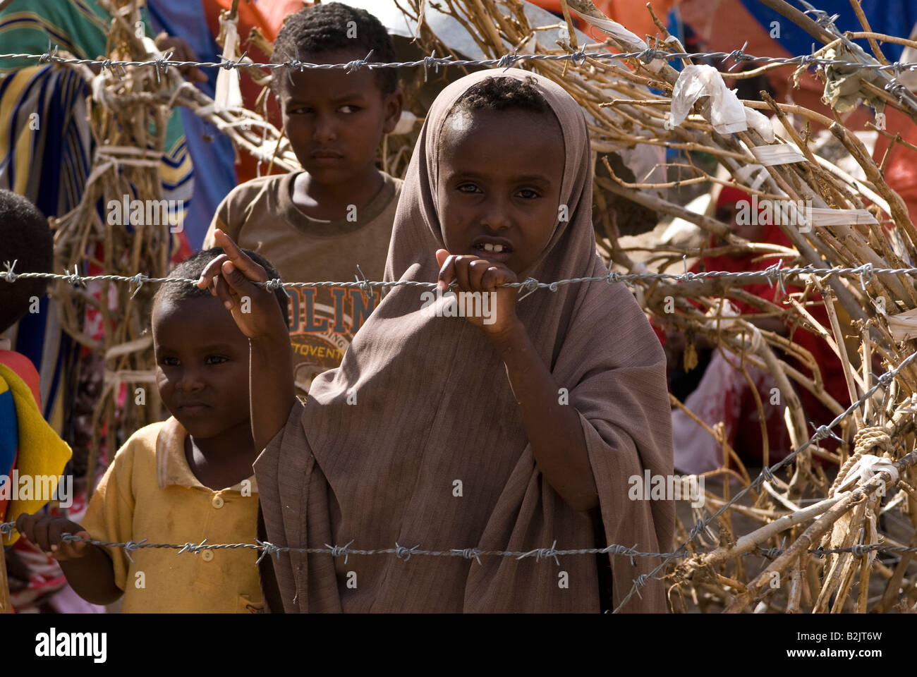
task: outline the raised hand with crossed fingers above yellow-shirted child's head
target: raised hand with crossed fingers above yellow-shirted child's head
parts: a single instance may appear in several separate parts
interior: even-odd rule
[[[267,282],[268,273],[238,248],[238,245],[217,228],[214,232],[220,254],[207,264],[197,286],[218,296],[232,313],[239,330],[249,338],[286,335],[281,306],[277,297],[252,282]]]

